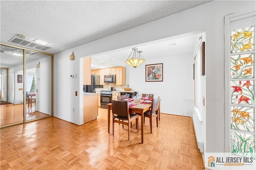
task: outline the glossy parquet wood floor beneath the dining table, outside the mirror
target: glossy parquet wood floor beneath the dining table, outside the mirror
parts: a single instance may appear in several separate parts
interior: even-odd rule
[[[135,123],[130,141],[127,126],[116,124],[115,135],[109,134],[107,109],[101,108],[96,120],[82,126],[50,117],[0,132],[1,170],[204,169],[188,117],[161,114],[152,134],[146,118],[144,144]]]

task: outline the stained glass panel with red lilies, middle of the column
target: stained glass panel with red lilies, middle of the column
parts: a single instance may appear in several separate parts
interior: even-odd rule
[[[254,105],[254,81],[230,81],[231,103]]]

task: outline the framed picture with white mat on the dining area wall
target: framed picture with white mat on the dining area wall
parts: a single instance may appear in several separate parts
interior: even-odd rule
[[[163,81],[163,63],[146,65],[146,81]]]

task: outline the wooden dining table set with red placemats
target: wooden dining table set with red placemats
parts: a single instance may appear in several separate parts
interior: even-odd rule
[[[131,102],[132,104],[136,104],[136,105],[133,105],[133,106],[129,106],[129,111],[130,113],[140,113],[140,125],[141,125],[141,143],[144,142],[143,140],[143,127],[144,127],[144,113],[146,111],[148,111],[151,107],[151,103],[148,104],[144,104],[144,103],[141,103],[143,102],[144,100],[140,100],[139,102],[135,102],[135,101],[129,101]],[[108,103],[107,104],[108,106],[108,133],[110,133],[110,111],[112,110],[112,103]]]

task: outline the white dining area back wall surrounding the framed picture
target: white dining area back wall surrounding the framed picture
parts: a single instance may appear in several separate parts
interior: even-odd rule
[[[136,68],[126,65],[126,83],[140,93],[159,96],[161,113],[182,115],[185,109],[184,99],[194,98],[192,56],[193,54],[188,54],[146,59]],[[157,63],[163,63],[163,81],[145,82],[145,65]]]

